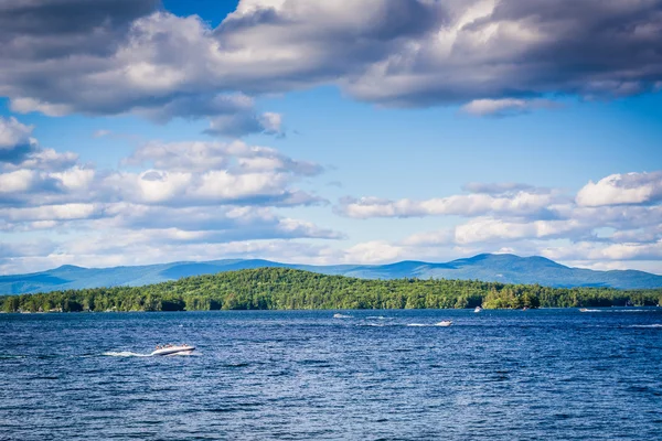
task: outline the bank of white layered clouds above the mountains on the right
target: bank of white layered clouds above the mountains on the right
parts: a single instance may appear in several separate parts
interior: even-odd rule
[[[374,250],[374,255],[356,255],[362,261],[371,261],[371,256],[374,261],[387,261],[380,260],[381,249],[384,256],[427,256],[431,260],[442,260],[449,254],[461,257],[504,250],[596,268],[640,262],[634,265],[660,272],[659,266],[651,263],[660,258],[662,244],[662,205],[655,186],[659,176],[659,172],[607,176],[598,184],[589,183],[575,197],[560,190],[521,183],[473,182],[463,186],[469,194],[427,201],[344,198],[335,209],[354,218],[467,218],[401,240],[364,243],[356,249]]]

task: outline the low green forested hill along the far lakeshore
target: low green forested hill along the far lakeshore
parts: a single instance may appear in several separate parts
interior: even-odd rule
[[[194,311],[653,305],[662,289],[545,288],[466,280],[369,280],[287,268],[196,276],[145,286],[0,297],[17,311]]]

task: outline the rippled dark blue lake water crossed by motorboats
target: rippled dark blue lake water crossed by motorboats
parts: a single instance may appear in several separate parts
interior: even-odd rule
[[[0,440],[662,439],[660,308],[333,312],[0,314]]]

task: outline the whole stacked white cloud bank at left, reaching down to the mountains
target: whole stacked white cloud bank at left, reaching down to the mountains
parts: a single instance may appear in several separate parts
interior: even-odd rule
[[[30,135],[31,128],[9,122],[24,133],[12,131],[3,138],[6,144]],[[152,141],[139,146],[118,169],[97,170],[73,153],[42,149],[36,140],[33,144],[21,162],[0,168],[0,232],[15,235],[17,241],[40,230],[58,235],[50,241],[53,249],[40,248],[47,256],[33,255],[30,247],[24,254],[11,248],[11,256],[0,255],[0,269],[83,259],[86,265],[127,263],[120,260],[129,248],[141,259],[162,261],[164,254],[157,251],[178,246],[182,249],[167,255],[225,249],[213,244],[232,243],[238,249],[243,241],[344,237],[276,212],[323,203],[296,187],[298,180],[323,169],[271,148],[241,141]]]

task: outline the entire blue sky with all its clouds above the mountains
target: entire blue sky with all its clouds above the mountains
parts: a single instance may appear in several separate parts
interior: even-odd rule
[[[662,1],[0,0],[0,275],[662,273]]]

